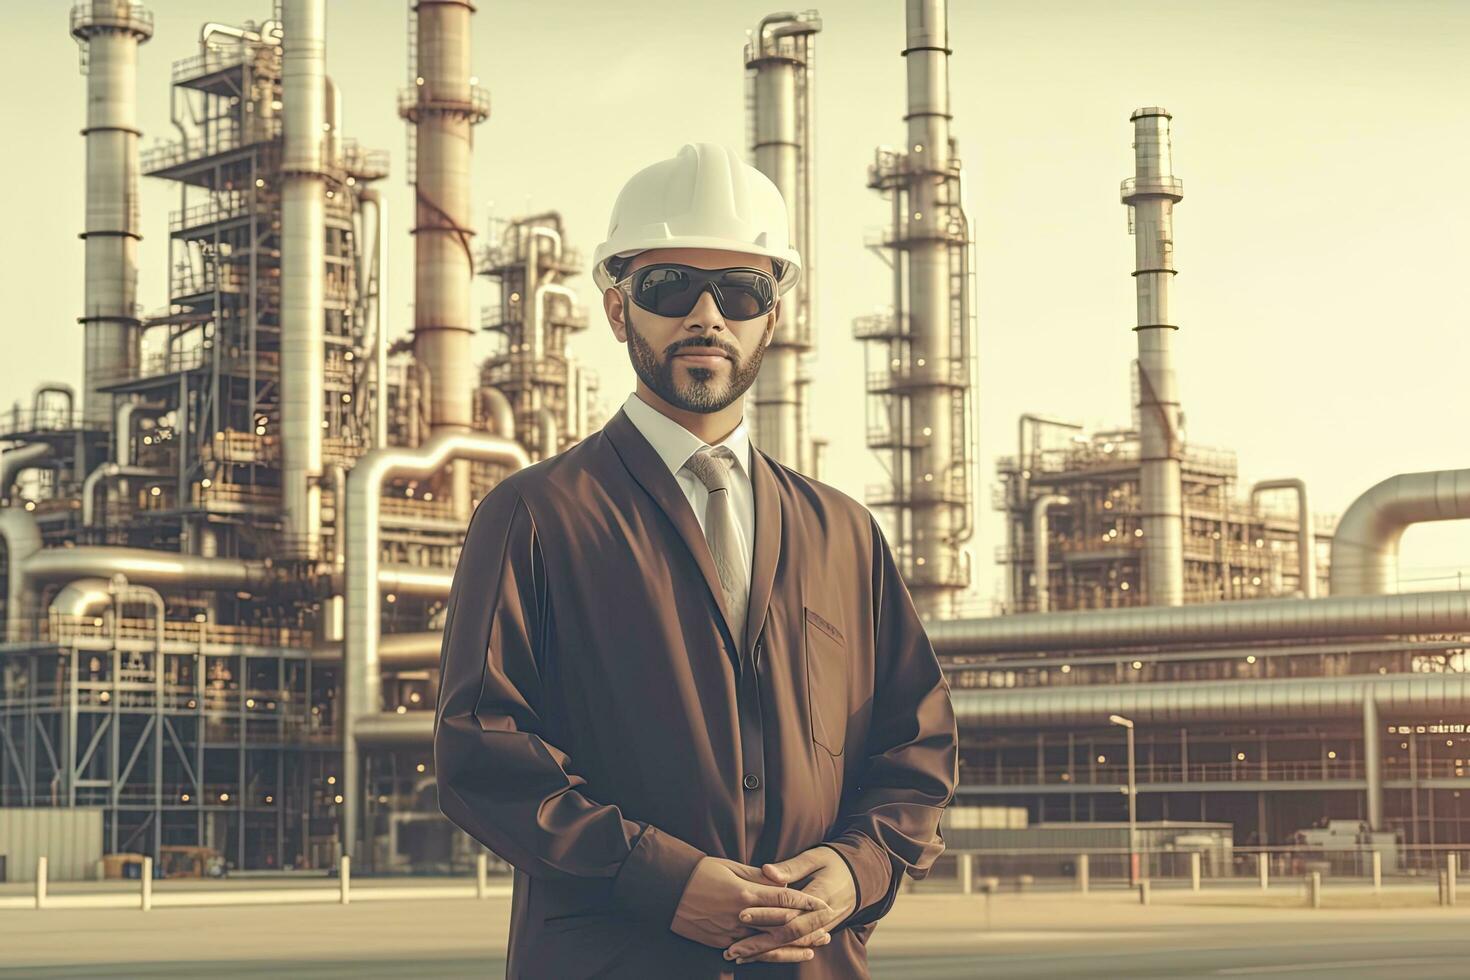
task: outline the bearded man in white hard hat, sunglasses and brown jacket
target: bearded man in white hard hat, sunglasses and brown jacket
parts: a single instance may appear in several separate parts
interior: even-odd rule
[[[594,278],[637,389],[470,520],[434,752],[516,868],[509,977],[866,977],[944,849],[954,711],[894,555],[744,423],[800,263],[734,151],[634,175]]]

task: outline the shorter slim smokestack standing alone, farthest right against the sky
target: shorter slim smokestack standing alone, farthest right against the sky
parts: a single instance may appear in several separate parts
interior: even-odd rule
[[[1175,382],[1169,285],[1175,278],[1175,203],[1183,182],[1173,175],[1167,110],[1136,109],[1135,175],[1123,181],[1133,234],[1138,289],[1139,520],[1144,527],[1144,597],[1150,605],[1183,604],[1183,455],[1179,389]]]

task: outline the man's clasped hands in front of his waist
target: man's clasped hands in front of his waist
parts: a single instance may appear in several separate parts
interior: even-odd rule
[[[832,848],[810,848],[760,868],[704,858],[670,929],[707,946],[725,946],[725,958],[735,962],[800,962],[816,955],[813,946],[831,942],[828,929],[856,905],[853,874]]]

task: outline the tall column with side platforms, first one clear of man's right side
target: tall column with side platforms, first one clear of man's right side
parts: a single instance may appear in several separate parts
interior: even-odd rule
[[[894,313],[854,323],[870,341],[867,445],[889,455],[892,480],[867,504],[892,511],[904,582],[926,619],[956,616],[970,585],[963,544],[975,532],[975,250],[950,137],[948,34],[944,0],[908,0],[908,141],[879,148],[867,181],[892,201],[882,245],[892,250]]]

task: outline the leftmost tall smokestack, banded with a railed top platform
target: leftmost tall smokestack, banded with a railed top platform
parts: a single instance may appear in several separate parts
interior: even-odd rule
[[[140,361],[138,46],[153,37],[153,15],[126,0],[91,0],[72,7],[71,24],[87,73],[82,425],[107,429],[112,395],[98,388],[132,378]]]

